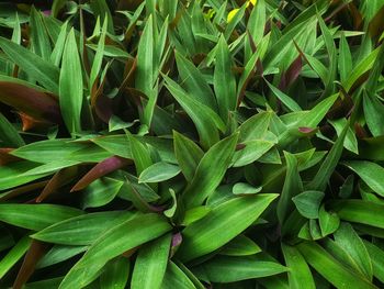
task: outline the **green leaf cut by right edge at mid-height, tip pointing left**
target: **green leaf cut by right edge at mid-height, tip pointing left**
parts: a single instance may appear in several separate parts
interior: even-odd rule
[[[349,160],[343,163],[377,194],[384,197],[384,168],[368,160]]]

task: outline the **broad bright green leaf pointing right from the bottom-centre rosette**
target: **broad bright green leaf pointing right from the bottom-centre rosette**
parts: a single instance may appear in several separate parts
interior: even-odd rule
[[[226,201],[182,231],[178,257],[188,262],[208,254],[250,226],[278,194],[257,194]]]

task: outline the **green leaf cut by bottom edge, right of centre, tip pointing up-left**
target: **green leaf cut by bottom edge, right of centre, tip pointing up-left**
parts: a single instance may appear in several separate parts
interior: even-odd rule
[[[289,268],[287,276],[290,288],[301,288],[305,285],[305,288],[315,289],[316,285],[314,278],[303,255],[295,247],[283,243],[281,244],[281,248]]]

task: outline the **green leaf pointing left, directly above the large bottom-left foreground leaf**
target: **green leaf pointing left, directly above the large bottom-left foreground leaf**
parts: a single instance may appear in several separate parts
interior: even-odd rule
[[[32,235],[32,237],[61,245],[91,245],[108,229],[132,218],[133,213],[124,211],[88,213],[54,223]]]

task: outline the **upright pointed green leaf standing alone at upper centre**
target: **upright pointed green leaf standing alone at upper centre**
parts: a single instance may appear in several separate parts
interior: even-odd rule
[[[229,111],[236,108],[236,79],[231,73],[231,57],[228,45],[222,35],[216,48],[216,65],[214,71],[214,88],[218,111],[224,122],[227,122]]]

